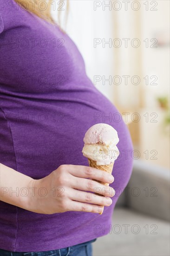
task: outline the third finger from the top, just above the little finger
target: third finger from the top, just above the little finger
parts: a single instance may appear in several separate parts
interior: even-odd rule
[[[84,192],[77,189],[71,189],[69,191],[69,198],[71,200],[78,201],[78,202],[98,204],[102,206],[109,206],[112,203],[112,200],[109,197],[95,195],[93,193]]]

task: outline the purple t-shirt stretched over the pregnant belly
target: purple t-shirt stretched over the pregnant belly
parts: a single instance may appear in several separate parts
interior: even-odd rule
[[[82,155],[83,138],[88,128],[101,122],[118,131],[120,157],[112,173],[116,195],[103,215],[76,211],[45,215],[0,202],[0,248],[45,251],[104,236],[109,233],[118,195],[131,176],[128,129],[118,110],[87,77],[84,60],[71,38],[14,0],[3,2],[0,162],[34,179],[62,164],[88,166]]]

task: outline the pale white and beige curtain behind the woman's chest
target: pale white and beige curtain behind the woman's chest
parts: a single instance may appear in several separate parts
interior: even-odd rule
[[[140,37],[140,15],[125,11],[123,6],[116,11],[119,6],[112,3],[71,0],[67,33],[82,53],[95,86],[117,106],[138,106],[142,104],[141,88],[131,85],[131,79],[141,76],[141,47],[131,47],[131,40]],[[135,77],[133,82],[137,83]]]

